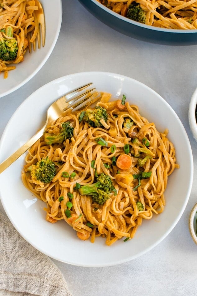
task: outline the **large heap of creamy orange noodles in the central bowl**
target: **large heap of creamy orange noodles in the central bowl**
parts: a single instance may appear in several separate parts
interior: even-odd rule
[[[121,100],[108,102],[109,98],[104,93],[97,103],[107,110],[107,128],[89,127],[88,122],[79,122],[81,111],[69,112],[46,132],[58,134],[61,124],[69,121],[74,128],[70,141],[47,145],[42,136],[29,149],[22,171],[23,184],[46,203],[47,221],[55,223],[63,219],[78,238],[86,240],[91,236],[94,242],[97,236],[102,236],[108,246],[123,237],[133,238],[144,219],[150,220],[153,214],[164,210],[168,176],[179,167],[167,130],[157,131],[154,123],[139,114],[137,106],[120,104]],[[127,120],[131,127],[125,125]],[[99,144],[98,138],[107,145]],[[125,152],[128,146],[129,152]],[[148,158],[142,165],[139,160],[146,155],[143,151],[148,151]],[[122,168],[118,160],[125,155],[131,165]],[[47,156],[57,170],[52,182],[44,184],[32,178],[29,167]],[[91,195],[81,195],[75,187],[95,183],[95,176],[102,173],[110,177],[114,190],[104,204],[97,204]]]

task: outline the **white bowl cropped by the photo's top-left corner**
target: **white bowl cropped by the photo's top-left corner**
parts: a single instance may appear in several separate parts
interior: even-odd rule
[[[12,93],[33,78],[54,49],[62,23],[62,1],[55,1],[55,9],[53,0],[41,0],[41,3],[45,13],[45,46],[36,48],[31,54],[27,51],[24,61],[16,64],[15,70],[9,71],[7,79],[4,79],[3,73],[0,74],[0,98]]]

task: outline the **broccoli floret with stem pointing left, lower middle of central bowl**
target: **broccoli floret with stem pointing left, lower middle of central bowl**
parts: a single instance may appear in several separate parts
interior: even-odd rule
[[[97,182],[94,184],[81,186],[79,193],[91,195],[94,203],[103,204],[110,198],[110,193],[114,189],[113,183],[110,177],[104,173],[101,173],[96,180]]]

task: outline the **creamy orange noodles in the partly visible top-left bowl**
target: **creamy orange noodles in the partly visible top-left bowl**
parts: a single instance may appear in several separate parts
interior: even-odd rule
[[[35,15],[38,6],[34,0],[0,0],[0,41],[1,38],[16,39],[16,59],[8,61],[0,59],[0,73],[4,71],[4,78],[7,78],[8,71],[15,69],[9,64],[18,64],[24,60],[27,48],[31,51],[31,43],[34,43],[39,31],[39,24]],[[13,37],[8,37],[5,30],[12,27]]]

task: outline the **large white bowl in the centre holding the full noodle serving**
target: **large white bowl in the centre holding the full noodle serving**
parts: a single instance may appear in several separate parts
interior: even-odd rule
[[[190,141],[180,119],[159,94],[123,75],[85,72],[56,79],[39,88],[21,104],[2,135],[0,162],[29,140],[42,126],[46,119],[46,110],[54,100],[89,82],[93,82],[98,90],[112,93],[114,98],[121,98],[125,94],[127,101],[138,105],[142,116],[149,122],[155,122],[158,131],[168,128],[168,138],[175,146],[180,169],[176,169],[168,179],[164,211],[159,215],[153,214],[151,220],[144,220],[130,241],[123,242],[121,239],[112,246],[106,246],[105,239],[101,237],[94,244],[89,240],[81,241],[72,227],[63,220],[55,224],[45,221],[45,203],[37,200],[21,181],[25,155],[0,174],[0,195],[12,224],[32,246],[56,260],[96,267],[132,260],[152,249],[171,232],[190,196],[193,158]],[[13,134],[14,137],[10,136]]]

